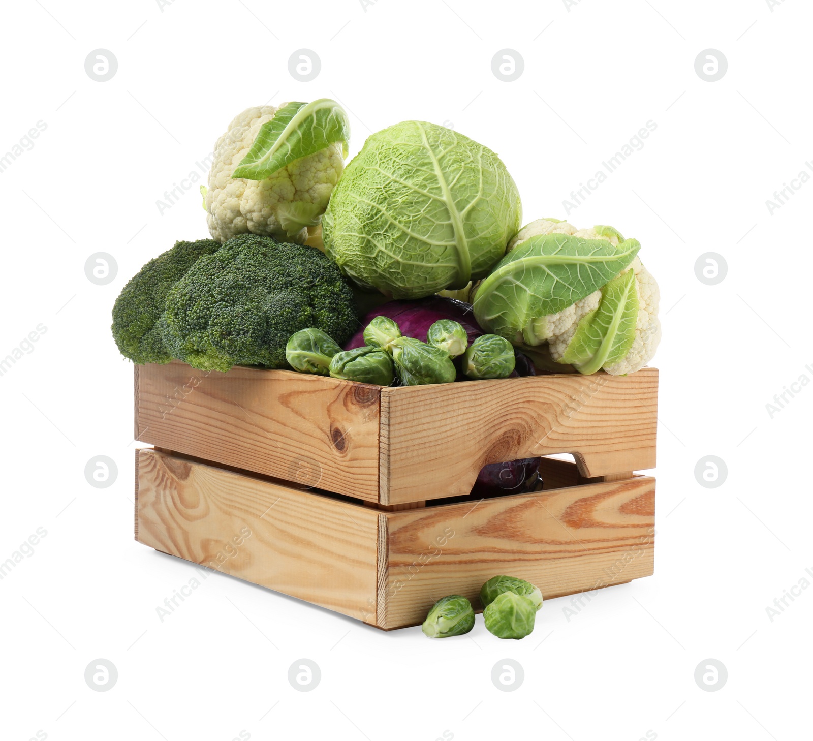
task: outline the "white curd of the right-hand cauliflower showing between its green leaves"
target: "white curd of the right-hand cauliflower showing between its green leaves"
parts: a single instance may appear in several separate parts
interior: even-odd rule
[[[618,246],[624,240],[616,229],[608,226],[576,229],[573,224],[569,224],[567,221],[550,218],[537,219],[520,229],[509,242],[507,252],[510,252],[531,237],[544,234],[567,234],[585,239],[606,239],[614,246]],[[658,319],[660,300],[658,283],[637,257],[620,274],[624,274],[628,270],[635,273],[635,289],[639,304],[635,338],[633,339],[632,348],[624,356],[623,360],[602,368],[606,373],[613,376],[623,376],[643,368],[654,357],[661,336],[660,321]],[[598,310],[601,299],[602,290],[595,290],[592,294],[576,301],[563,311],[542,316],[541,319],[537,320],[535,333],[537,337],[546,338],[550,357],[553,360],[565,364],[563,355],[576,334],[580,321]],[[521,342],[521,339],[519,341]]]

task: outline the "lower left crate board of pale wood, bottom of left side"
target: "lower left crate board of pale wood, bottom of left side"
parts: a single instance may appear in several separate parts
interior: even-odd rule
[[[137,455],[141,543],[376,623],[378,512],[158,451]]]

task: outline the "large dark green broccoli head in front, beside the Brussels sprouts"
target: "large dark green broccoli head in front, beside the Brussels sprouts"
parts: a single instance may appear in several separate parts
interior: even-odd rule
[[[359,326],[350,286],[319,250],[241,234],[198,260],[167,295],[163,338],[193,368],[288,368],[285,345],[315,327],[345,342]]]

